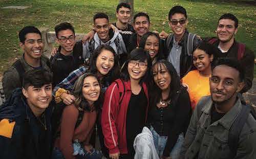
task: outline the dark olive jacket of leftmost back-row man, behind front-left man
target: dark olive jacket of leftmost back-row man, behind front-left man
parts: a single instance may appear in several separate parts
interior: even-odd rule
[[[34,69],[25,61],[24,55],[20,57],[20,62],[22,63],[25,72]],[[49,66],[50,63],[51,62],[48,57],[46,57],[45,55],[41,55],[42,68],[51,72],[51,67]],[[13,65],[4,72],[2,84],[3,84],[3,89],[4,89],[4,94],[6,99],[8,99],[8,97],[12,94],[12,91],[15,88],[22,87],[22,83],[20,83],[19,74]]]

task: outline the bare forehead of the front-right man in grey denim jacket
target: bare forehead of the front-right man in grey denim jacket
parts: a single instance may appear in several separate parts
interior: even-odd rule
[[[238,79],[239,71],[228,65],[218,65],[212,70],[212,76],[220,78]]]

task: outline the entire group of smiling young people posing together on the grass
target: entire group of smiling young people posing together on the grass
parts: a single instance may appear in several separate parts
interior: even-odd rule
[[[229,115],[231,107],[241,109],[239,94],[251,87],[254,54],[234,41],[238,19],[222,15],[218,38],[202,40],[186,30],[181,6],[169,11],[169,35],[150,32],[150,17],[143,12],[130,25],[126,3],[117,6],[116,16],[111,26],[106,14],[95,14],[93,30],[77,42],[71,24],[57,25],[59,48],[50,60],[41,55],[37,28],[19,32],[24,54],[3,77],[0,158],[230,157],[227,138],[207,128],[233,119],[238,113]],[[234,59],[220,58],[226,56]],[[201,118],[198,111],[204,109],[198,105],[207,103],[200,99],[209,95],[212,110]],[[203,125],[208,117],[213,121]],[[246,126],[237,158],[256,155],[246,147],[256,139],[256,128]]]

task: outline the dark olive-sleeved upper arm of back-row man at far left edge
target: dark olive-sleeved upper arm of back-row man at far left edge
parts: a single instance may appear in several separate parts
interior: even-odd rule
[[[22,83],[20,83],[19,74],[14,67],[11,67],[4,73],[2,84],[6,99],[8,99],[11,96],[12,91],[14,89],[22,87]]]

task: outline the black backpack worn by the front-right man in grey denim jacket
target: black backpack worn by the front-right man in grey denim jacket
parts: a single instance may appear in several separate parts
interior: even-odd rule
[[[203,97],[201,98],[200,101],[203,101],[203,103],[206,103],[207,100],[209,100],[209,97]],[[241,101],[242,103],[242,109],[238,115],[238,117],[236,118],[236,120],[234,120],[233,124],[231,125],[230,129],[229,129],[229,133],[228,133],[228,146],[230,148],[230,156],[229,158],[234,158],[237,155],[237,149],[238,149],[238,142],[239,142],[239,135],[242,131],[242,128],[249,116],[249,114],[251,113],[252,117],[256,120],[256,115],[254,112],[254,109],[252,108],[252,106],[247,105],[244,101]],[[198,105],[197,105],[198,106]],[[200,117],[202,116],[202,109],[203,109],[204,105],[201,105],[200,108],[197,109],[197,113],[198,113],[198,119],[200,119]]]

